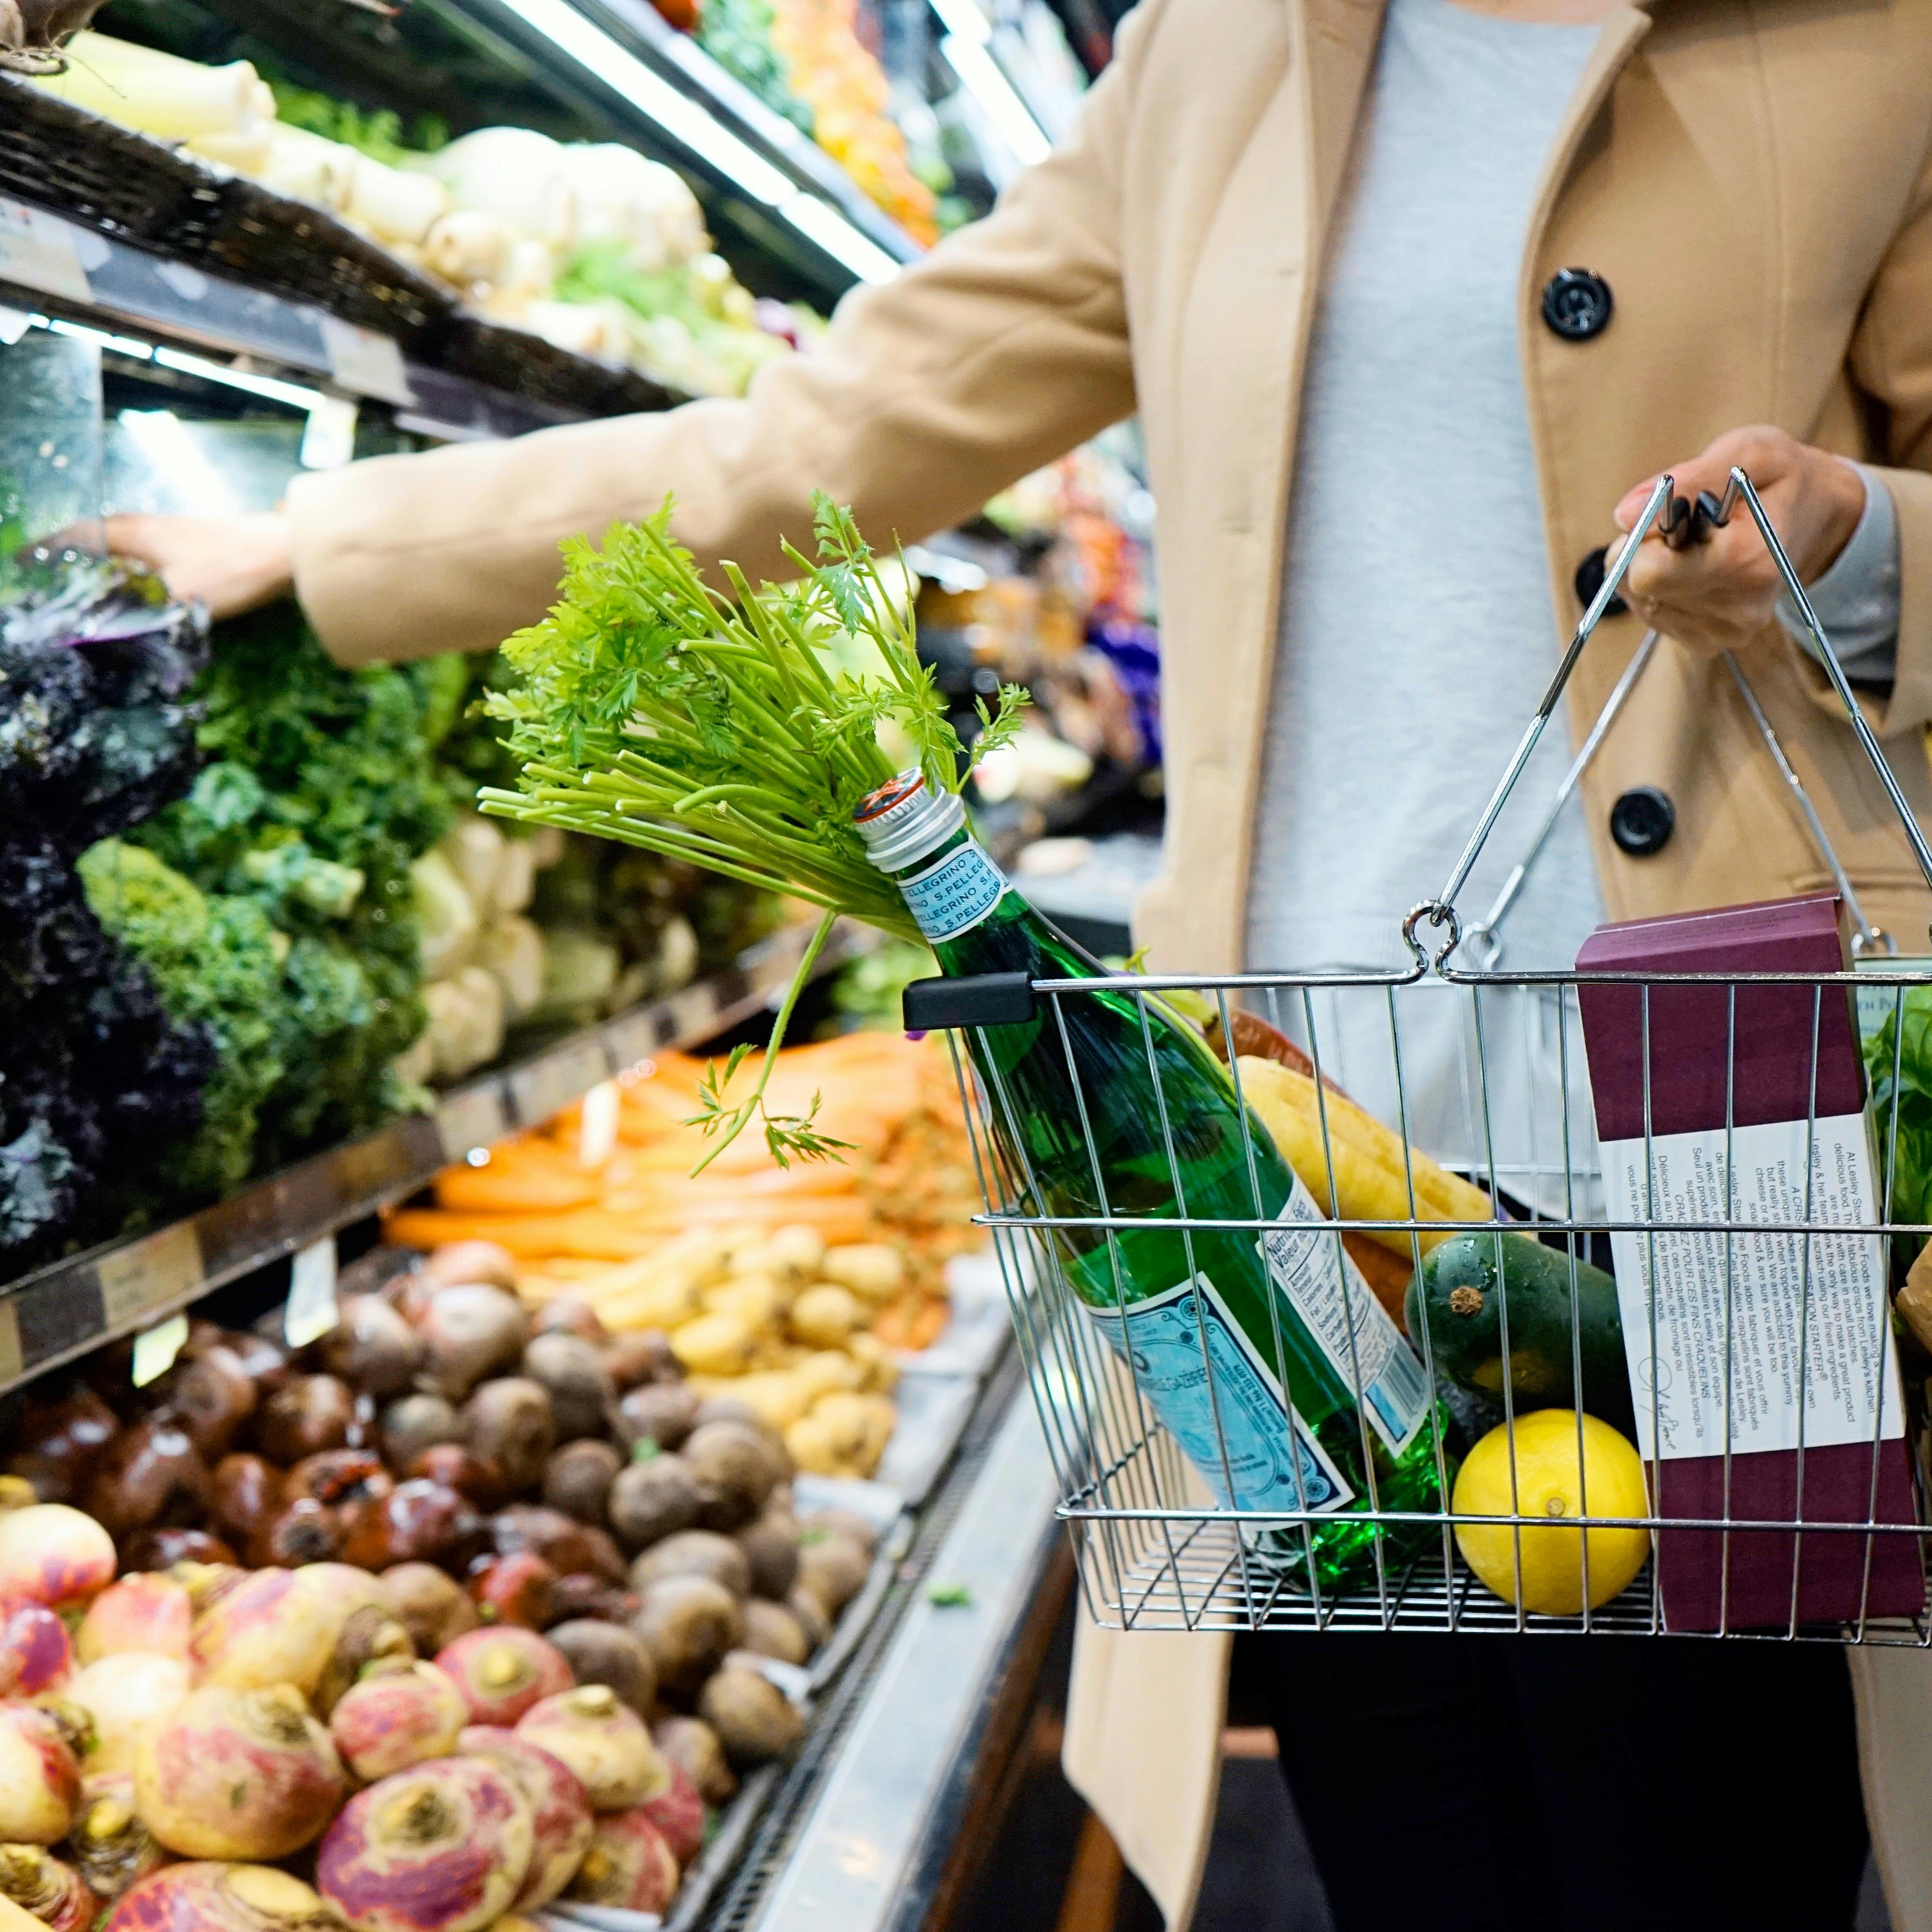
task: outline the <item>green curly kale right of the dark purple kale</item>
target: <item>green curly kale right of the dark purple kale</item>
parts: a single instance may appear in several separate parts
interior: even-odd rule
[[[257,1171],[412,1099],[390,1070],[425,1018],[410,864],[450,823],[431,750],[466,684],[460,659],[344,670],[294,605],[216,632],[195,686],[209,763],[133,838],[211,906],[245,902],[284,941],[261,1059],[272,1078],[211,1099],[211,1128],[249,1142]]]

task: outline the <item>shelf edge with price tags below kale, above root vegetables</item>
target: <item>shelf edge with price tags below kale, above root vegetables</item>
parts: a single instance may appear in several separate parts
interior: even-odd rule
[[[736,1026],[784,989],[808,941],[810,927],[786,927],[726,972],[454,1088],[433,1113],[392,1121],[153,1233],[52,1262],[0,1287],[0,1393],[151,1327],[213,1289],[412,1194],[450,1161],[547,1121],[653,1053],[697,1045]],[[842,922],[815,972],[873,945],[869,929]]]

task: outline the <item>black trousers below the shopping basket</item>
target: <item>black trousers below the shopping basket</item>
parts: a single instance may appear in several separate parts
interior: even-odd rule
[[[1244,1636],[1337,1932],[1849,1932],[1851,1679],[1828,1644]]]

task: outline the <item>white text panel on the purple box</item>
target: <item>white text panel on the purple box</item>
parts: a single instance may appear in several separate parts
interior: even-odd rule
[[[1810,1202],[1803,1121],[1731,1130],[1735,1180],[1725,1208],[1723,1128],[1604,1142],[1611,1221],[1872,1227],[1878,1192],[1862,1113],[1812,1128]],[[1729,1273],[1725,1246],[1729,1244]],[[1905,1434],[1878,1235],[1636,1233],[1609,1236],[1636,1445],[1663,1461],[1723,1455],[1725,1293],[1729,1281],[1729,1441],[1735,1455]],[[1808,1250],[1808,1252],[1806,1252]],[[1650,1269],[1656,1265],[1656,1347]],[[1803,1335],[1801,1335],[1803,1310]],[[1803,1403],[1801,1403],[1803,1389]],[[1880,1393],[1884,1406],[1880,1410]]]

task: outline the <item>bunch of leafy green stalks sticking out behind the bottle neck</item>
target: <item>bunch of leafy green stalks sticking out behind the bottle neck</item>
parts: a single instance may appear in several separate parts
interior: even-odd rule
[[[752,1094],[726,1099],[742,1047],[701,1090],[694,1124],[715,1146],[699,1165],[753,1119],[781,1165],[844,1146],[813,1126],[817,1101],[767,1113],[765,1086],[840,914],[920,937],[852,808],[895,775],[881,728],[910,742],[933,790],[956,792],[972,769],[850,510],[823,495],[811,510],[817,562],[786,545],[798,582],[755,589],[724,564],[728,593],[672,543],[668,498],[643,524],[614,524],[601,549],[570,539],[562,599],[502,647],[520,684],[485,701],[524,767],[518,790],[479,794],[485,811],[622,838],[821,908]],[[852,639],[875,668],[844,668]],[[974,757],[1010,740],[1024,703],[1009,686],[997,711],[980,707]]]

